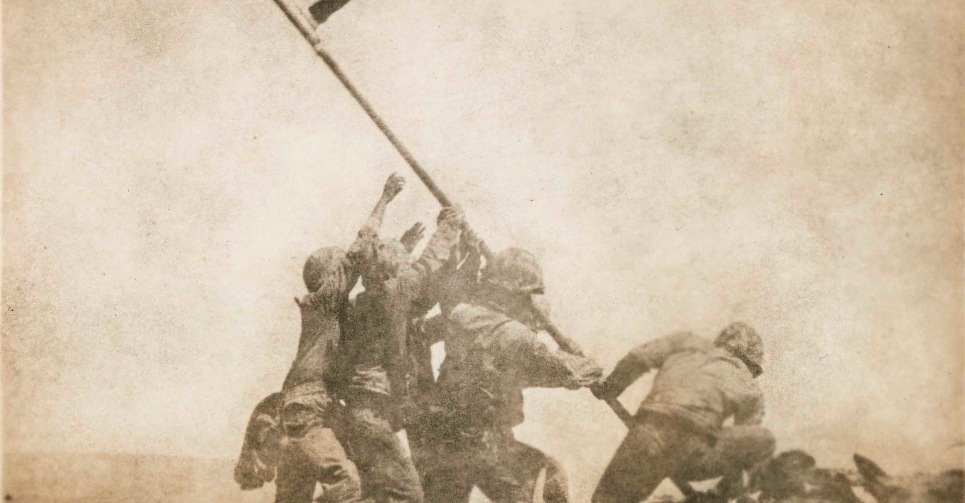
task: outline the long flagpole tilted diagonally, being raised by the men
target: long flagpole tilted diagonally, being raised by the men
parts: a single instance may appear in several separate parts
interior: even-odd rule
[[[292,24],[298,28],[298,31],[301,32],[305,40],[312,45],[315,53],[319,58],[321,58],[321,61],[325,63],[325,66],[327,66],[329,70],[332,70],[332,73],[335,73],[335,76],[340,82],[342,82],[342,85],[345,86],[345,89],[348,91],[348,93],[352,95],[352,98],[355,98],[355,100],[358,101],[359,105],[362,106],[362,109],[365,110],[365,113],[368,114],[369,118],[372,119],[372,122],[375,123],[375,126],[382,131],[382,134],[384,134],[389,140],[389,143],[396,148],[396,151],[398,151],[402,158],[405,159],[406,164],[408,164],[409,167],[412,168],[412,171],[415,172],[416,176],[419,177],[419,180],[426,184],[426,188],[435,197],[435,199],[439,201],[439,204],[443,207],[453,206],[452,200],[450,200],[442,189],[440,189],[439,186],[432,181],[432,179],[428,176],[427,171],[419,164],[419,161],[417,161],[415,157],[409,153],[408,149],[402,145],[402,142],[399,140],[399,138],[397,138],[392,132],[392,129],[389,129],[389,126],[387,126],[385,122],[382,121],[382,118],[375,113],[375,110],[372,109],[372,104],[369,103],[369,100],[359,93],[358,89],[355,88],[355,85],[348,80],[347,76],[345,76],[345,73],[339,67],[339,64],[336,63],[336,61],[332,59],[332,56],[328,54],[328,51],[321,46],[321,39],[318,37],[318,34],[315,31],[316,26],[314,23],[306,19],[304,14],[301,14],[298,8],[292,6],[290,4],[290,0],[275,0],[275,3],[278,4],[278,7],[281,8],[282,12],[288,16]],[[486,261],[491,260],[492,250],[489,249],[484,241],[480,243],[480,252],[483,254],[483,257],[486,258]],[[533,312],[538,321],[560,346],[560,349],[579,356],[586,355],[584,350],[580,348],[576,341],[566,337],[565,334],[556,326],[556,324],[553,323],[553,321],[550,321],[548,318],[546,318],[546,316],[543,315],[543,313],[541,313],[538,309],[533,309]],[[622,404],[620,404],[620,401],[618,401],[616,398],[609,398],[605,399],[604,402],[606,402],[607,405],[610,405],[610,408],[612,408],[617,414],[617,416],[620,418],[620,421],[622,421],[628,427],[630,426],[633,416]]]

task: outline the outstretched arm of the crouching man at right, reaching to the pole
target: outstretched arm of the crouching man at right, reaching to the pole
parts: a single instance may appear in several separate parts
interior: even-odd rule
[[[703,347],[706,342],[690,332],[677,332],[642,344],[620,360],[610,376],[593,387],[600,399],[619,397],[635,380],[650,369],[660,368],[672,354],[686,349]]]

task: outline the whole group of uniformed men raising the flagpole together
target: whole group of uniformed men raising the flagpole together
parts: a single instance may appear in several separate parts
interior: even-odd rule
[[[347,251],[326,247],[307,260],[297,353],[281,391],[252,414],[234,472],[242,489],[274,480],[278,503],[310,502],[319,486],[319,502],[456,503],[478,488],[493,502],[523,503],[545,473],[539,496],[566,502],[560,463],[513,435],[522,390],[586,387],[611,399],[651,369],[652,390],[593,502],[643,501],[668,477],[688,495],[691,481],[723,477],[712,490],[727,497],[773,454],[774,437],[759,426],[763,350],[753,328],[732,323],[713,342],[689,332],[653,340],[604,378],[592,359],[538,337],[546,313],[530,253],[484,260],[457,208],[441,210],[417,259],[423,225],[380,238],[403,185],[389,178]],[[360,280],[364,291],[350,298]]]

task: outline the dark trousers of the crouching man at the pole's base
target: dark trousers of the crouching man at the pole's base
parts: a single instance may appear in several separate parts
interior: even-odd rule
[[[739,475],[774,452],[774,436],[761,427],[724,429],[715,443],[673,417],[645,413],[637,421],[603,472],[593,503],[638,503],[667,477]]]

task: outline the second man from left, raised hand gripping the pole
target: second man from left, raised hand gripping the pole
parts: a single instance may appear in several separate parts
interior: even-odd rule
[[[346,433],[365,493],[379,503],[423,500],[413,461],[395,434],[413,409],[409,399],[416,387],[410,323],[432,307],[433,301],[426,301],[429,285],[463,225],[461,210],[443,209],[438,228],[414,262],[399,241],[368,241],[365,292],[356,298],[357,323],[345,339]]]

